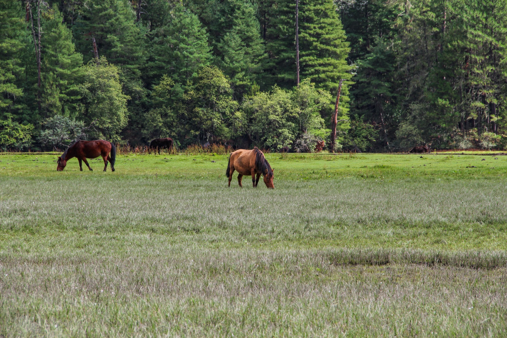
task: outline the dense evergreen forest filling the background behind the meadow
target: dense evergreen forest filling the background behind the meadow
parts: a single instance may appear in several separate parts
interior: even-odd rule
[[[506,56],[504,0],[0,0],[0,148],[506,149]]]

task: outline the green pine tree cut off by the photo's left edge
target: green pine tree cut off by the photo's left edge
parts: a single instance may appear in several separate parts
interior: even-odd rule
[[[0,0],[0,120],[22,119],[23,54],[29,43],[18,2]]]

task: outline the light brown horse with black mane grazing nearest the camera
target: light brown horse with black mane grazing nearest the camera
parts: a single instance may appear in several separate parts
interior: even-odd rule
[[[229,186],[231,186],[234,170],[238,171],[238,184],[241,187],[243,186],[241,185],[241,178],[243,178],[243,175],[252,176],[253,187],[257,186],[261,175],[263,176],[264,184],[266,184],[268,188],[273,189],[275,187],[273,184],[273,169],[271,169],[264,154],[258,147],[254,147],[252,150],[238,149],[231,154],[225,173],[226,176],[229,177]]]

